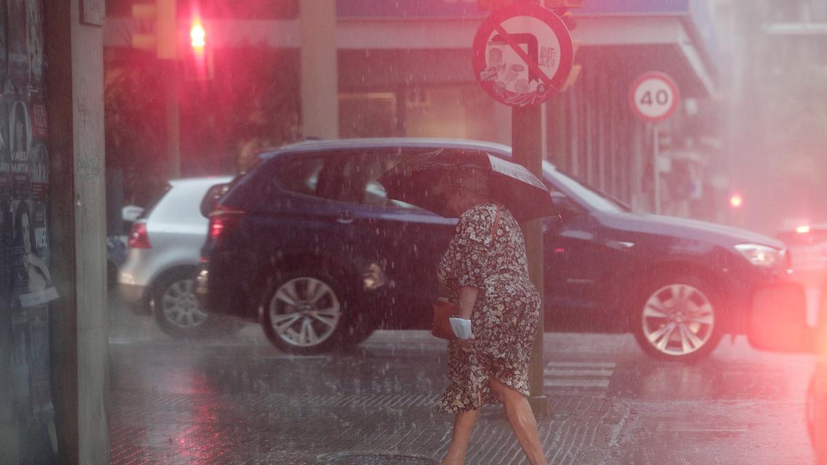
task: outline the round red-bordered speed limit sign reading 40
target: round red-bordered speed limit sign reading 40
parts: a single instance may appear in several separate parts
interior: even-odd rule
[[[662,73],[646,73],[635,79],[629,89],[629,103],[643,121],[661,122],[680,101],[675,81]]]

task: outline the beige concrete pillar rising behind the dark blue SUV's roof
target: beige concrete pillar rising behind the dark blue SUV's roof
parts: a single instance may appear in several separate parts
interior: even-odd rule
[[[336,1],[301,0],[301,95],[304,137],[339,137]]]

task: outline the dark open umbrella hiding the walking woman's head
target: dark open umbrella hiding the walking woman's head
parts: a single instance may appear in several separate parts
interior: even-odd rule
[[[488,173],[490,198],[505,205],[518,222],[555,214],[552,196],[537,176],[485,151],[439,149],[409,156],[378,181],[385,186],[388,198],[447,217],[445,199],[437,189],[440,180],[452,170],[473,168]]]

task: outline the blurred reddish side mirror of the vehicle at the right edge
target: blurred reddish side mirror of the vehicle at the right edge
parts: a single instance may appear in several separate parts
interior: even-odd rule
[[[753,348],[815,352],[817,332],[807,325],[804,288],[796,283],[756,291],[749,309],[747,338]]]

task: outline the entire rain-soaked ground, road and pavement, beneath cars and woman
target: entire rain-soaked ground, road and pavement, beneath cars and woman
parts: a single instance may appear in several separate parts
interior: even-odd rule
[[[112,463],[436,463],[445,344],[380,331],[296,357],[248,325],[176,341],[112,309]],[[657,362],[630,335],[547,333],[539,420],[549,463],[812,463],[804,423],[814,359],[729,338],[694,365]],[[523,463],[486,407],[466,463]]]

